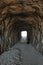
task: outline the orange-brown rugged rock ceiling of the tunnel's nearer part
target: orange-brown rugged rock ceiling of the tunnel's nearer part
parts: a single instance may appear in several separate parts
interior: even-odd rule
[[[12,30],[18,20],[40,28],[43,21],[43,1],[0,0],[0,30]]]

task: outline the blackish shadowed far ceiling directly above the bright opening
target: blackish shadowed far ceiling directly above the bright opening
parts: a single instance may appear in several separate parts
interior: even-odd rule
[[[13,24],[13,28],[16,31],[25,31],[25,30],[29,31],[32,30],[32,24],[18,20]]]

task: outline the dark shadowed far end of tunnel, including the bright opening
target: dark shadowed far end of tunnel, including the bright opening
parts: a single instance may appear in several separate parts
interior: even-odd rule
[[[32,25],[25,21],[18,21],[14,23],[14,26],[17,42],[29,44],[32,40]]]

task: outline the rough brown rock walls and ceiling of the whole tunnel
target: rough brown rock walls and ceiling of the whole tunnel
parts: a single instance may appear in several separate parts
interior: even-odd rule
[[[43,3],[35,0],[0,0],[0,54],[20,42],[27,31],[27,43],[43,54]]]

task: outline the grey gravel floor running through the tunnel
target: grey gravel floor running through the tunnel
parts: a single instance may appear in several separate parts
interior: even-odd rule
[[[43,65],[43,56],[31,44],[17,43],[0,55],[0,65]]]

